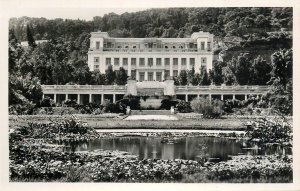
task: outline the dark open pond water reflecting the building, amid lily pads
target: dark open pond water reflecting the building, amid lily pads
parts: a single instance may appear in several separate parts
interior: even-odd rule
[[[203,136],[173,139],[137,136],[110,137],[69,146],[66,151],[119,150],[137,155],[139,159],[164,160],[198,160],[205,155],[207,159],[222,161],[227,160],[231,155],[291,154],[292,152],[290,148],[280,148],[276,145],[260,148],[256,145],[247,145],[245,140]]]

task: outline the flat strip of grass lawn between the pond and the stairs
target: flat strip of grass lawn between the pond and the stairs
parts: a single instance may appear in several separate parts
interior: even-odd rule
[[[126,121],[125,116],[111,115],[75,115],[81,121],[87,122],[95,129],[210,129],[210,130],[244,130],[244,124],[248,121],[245,118],[224,118],[224,119],[189,119],[178,116],[177,121]],[[60,115],[24,115],[10,116],[9,126],[27,125],[28,122],[49,123],[60,120]]]

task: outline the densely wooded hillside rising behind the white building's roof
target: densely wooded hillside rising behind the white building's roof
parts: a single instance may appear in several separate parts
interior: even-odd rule
[[[84,32],[107,31],[113,37],[186,37],[194,31],[208,31],[215,36],[248,38],[254,34],[281,28],[292,29],[291,8],[169,8],[135,13],[105,14],[92,21],[45,18],[11,18],[10,29],[17,39],[26,40],[26,26],[36,40],[72,38]]]

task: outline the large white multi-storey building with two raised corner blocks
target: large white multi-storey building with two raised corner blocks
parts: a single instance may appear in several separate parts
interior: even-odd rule
[[[123,67],[137,81],[163,81],[181,70],[212,68],[213,35],[196,32],[191,38],[113,38],[107,32],[92,32],[88,52],[91,71],[105,73]]]

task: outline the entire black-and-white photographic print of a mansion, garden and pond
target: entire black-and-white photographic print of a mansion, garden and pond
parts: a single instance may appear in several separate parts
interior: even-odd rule
[[[8,184],[291,189],[297,8],[197,5],[10,12]]]

